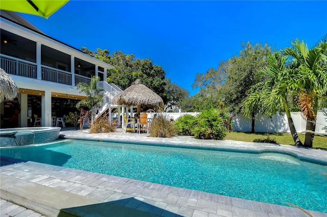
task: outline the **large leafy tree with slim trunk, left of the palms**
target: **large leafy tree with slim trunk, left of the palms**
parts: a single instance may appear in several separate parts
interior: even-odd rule
[[[250,87],[258,82],[256,74],[267,65],[267,56],[271,53],[268,44],[250,42],[241,43],[242,50],[227,61],[221,61],[217,69],[210,68],[205,74],[197,74],[194,88],[201,88],[201,97],[218,108],[221,101],[229,112],[240,112],[241,104]],[[216,102],[216,103],[214,103]],[[252,132],[254,132],[254,115]]]

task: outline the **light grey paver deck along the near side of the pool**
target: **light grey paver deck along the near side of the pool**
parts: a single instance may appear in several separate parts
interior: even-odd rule
[[[1,182],[1,190],[2,192],[7,191],[4,195],[7,198],[4,199],[18,202],[18,204],[21,203],[19,198],[33,200],[33,197],[29,195],[29,191],[18,194],[16,190],[10,189],[11,183],[6,183],[3,177],[10,176],[17,181],[24,180],[27,183],[32,182],[42,185],[44,191],[49,192],[49,194],[52,194],[53,188],[57,188],[79,195],[79,197],[85,196],[86,198],[114,203],[123,207],[131,208],[136,202],[137,206],[133,207],[135,210],[143,210],[153,214],[159,213],[158,215],[161,214],[162,216],[164,216],[165,212],[166,214],[167,212],[177,214],[172,216],[198,216],[201,213],[207,213],[203,216],[306,216],[301,210],[289,206],[209,194],[202,191],[79,171],[32,161],[21,162],[12,158],[2,158],[2,163],[5,162],[8,162],[8,164],[2,167],[1,174],[4,182]],[[40,197],[38,200],[43,200],[42,194],[34,194],[34,197],[37,196]],[[123,202],[127,199],[129,201]],[[129,204],[131,201],[134,205]],[[35,211],[40,213],[44,212],[35,206],[37,201],[36,203],[31,202],[30,205],[28,200],[25,203],[27,204],[22,205],[34,208]],[[61,208],[67,206],[74,206],[74,203],[66,204]],[[51,207],[51,202],[48,202],[48,205],[45,204],[45,207]],[[327,216],[327,213],[307,211],[313,216]]]

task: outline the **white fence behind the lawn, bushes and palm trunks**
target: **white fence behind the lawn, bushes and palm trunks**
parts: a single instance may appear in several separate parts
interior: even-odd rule
[[[180,113],[166,113],[171,118],[176,120],[178,117],[184,114],[191,114],[196,116],[199,112],[180,112]],[[148,114],[149,115],[149,114]],[[153,115],[153,113],[152,113]],[[306,120],[303,119],[300,112],[291,112],[293,123],[297,133],[306,131]],[[244,117],[243,115],[237,115],[233,117],[233,130],[251,132],[251,119]],[[322,128],[327,126],[327,116],[324,116],[322,112],[317,113],[317,122],[316,122],[316,133],[327,134]],[[276,114],[272,118],[268,118],[258,114],[255,116],[254,129],[255,132],[267,132],[269,127],[269,132],[278,132],[278,133],[290,133],[290,128],[288,126],[287,116],[284,113]]]

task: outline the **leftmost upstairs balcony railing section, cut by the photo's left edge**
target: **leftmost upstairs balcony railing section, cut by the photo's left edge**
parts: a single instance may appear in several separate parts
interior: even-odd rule
[[[1,55],[0,67],[8,74],[35,79],[37,78],[36,64],[30,61],[9,57],[7,55]]]

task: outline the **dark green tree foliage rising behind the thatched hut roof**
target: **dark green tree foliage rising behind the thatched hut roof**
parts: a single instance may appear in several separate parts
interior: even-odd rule
[[[124,54],[122,51],[115,51],[110,55],[108,50],[97,49],[96,52],[92,52],[86,47],[82,47],[82,50],[90,56],[115,66],[108,70],[107,82],[114,83],[123,90],[139,79],[160,95],[165,104],[171,102],[168,106],[176,105],[179,99],[189,95],[188,90],[176,83],[171,83],[169,78],[165,78],[165,70],[153,64],[150,59],[138,59],[134,54]]]

